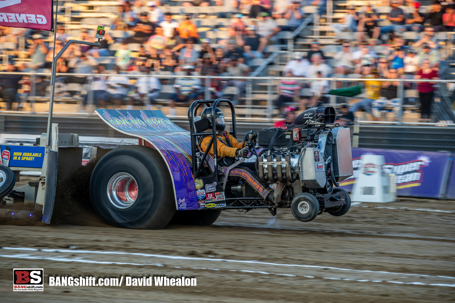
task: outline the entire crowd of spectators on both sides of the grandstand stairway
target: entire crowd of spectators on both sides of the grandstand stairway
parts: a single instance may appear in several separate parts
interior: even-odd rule
[[[227,1],[227,0],[226,0]],[[232,11],[221,13],[231,17],[227,26],[228,37],[212,41],[201,38],[197,25],[192,21],[194,15],[175,18],[163,13],[159,1],[124,1],[118,5],[117,18],[106,28],[106,35],[100,47],[71,45],[57,62],[57,72],[74,74],[108,74],[108,76],[61,76],[57,84],[89,84],[90,94],[81,91],[62,89],[57,94],[74,96],[82,100],[85,108],[88,100],[97,107],[106,104],[151,105],[160,95],[162,85],[172,85],[174,91],[167,96],[171,106],[170,114],[175,114],[178,103],[189,103],[202,98],[206,85],[212,97],[223,96],[225,89],[235,88],[234,95],[245,93],[244,79],[223,80],[225,76],[246,78],[257,66],[257,59],[267,57],[268,45],[279,45],[280,31],[295,30],[303,21],[302,7],[315,5],[319,13],[325,13],[324,0],[232,0],[228,1]],[[427,14],[419,12],[420,2],[413,0],[390,0],[391,10],[386,14],[389,25],[379,26],[384,18],[374,6],[347,7],[347,14],[333,25],[335,33],[342,31],[358,32],[357,41],[340,41],[341,50],[327,56],[321,50],[318,40],[313,40],[306,53],[294,52],[292,60],[284,67],[285,77],[327,78],[333,75],[358,74],[363,78],[406,78],[436,79],[439,71],[440,47],[435,33],[453,30],[455,27],[455,2],[435,0]],[[400,5],[413,7],[412,13],[405,14]],[[209,2],[194,0],[184,2],[183,6],[207,6]],[[216,5],[226,5],[216,1]],[[145,10],[144,8],[147,8]],[[182,16],[179,16],[182,17]],[[249,18],[256,18],[251,20]],[[277,25],[276,19],[287,19],[287,25]],[[125,30],[133,35],[113,37],[115,30]],[[418,32],[418,39],[410,43],[404,40],[404,31]],[[9,52],[6,71],[50,71],[54,54],[51,36],[35,30],[0,28],[0,43],[18,42],[23,35],[26,55],[25,63],[18,59],[18,52]],[[384,40],[384,34],[387,38]],[[70,35],[62,25],[56,29],[55,53],[61,50]],[[381,40],[383,39],[383,40]],[[96,41],[89,30],[81,29],[79,40]],[[113,50],[110,45],[117,45]],[[138,44],[138,47],[131,47]],[[215,46],[216,45],[216,46]],[[383,51],[375,52],[376,45],[386,45]],[[115,64],[106,58],[115,57]],[[23,58],[23,54],[22,57]],[[333,59],[331,59],[333,58]],[[107,63],[106,63],[107,62]],[[155,77],[131,77],[131,75],[161,73],[160,75],[211,75],[220,76],[206,82],[200,78],[157,79]],[[127,77],[126,74],[130,75]],[[48,94],[49,77],[35,77],[35,95]],[[398,110],[396,81],[359,82],[364,85],[364,97],[359,103],[342,107],[350,113],[363,109],[379,119],[381,110]],[[409,84],[419,90],[422,119],[429,121],[430,104],[433,99],[433,85],[428,83]],[[0,75],[0,94],[6,102],[6,109],[21,109],[30,94],[30,76]],[[276,106],[282,112],[288,106],[299,110],[326,103],[330,90],[328,80],[282,80],[278,84]],[[336,83],[342,88],[343,83]],[[310,95],[301,95],[308,88]],[[232,90],[230,90],[232,91]],[[398,104],[398,105],[397,105]],[[30,103],[30,105],[32,105]],[[346,113],[346,117],[351,117]],[[345,118],[346,118],[345,117]],[[348,118],[346,118],[348,119]]]

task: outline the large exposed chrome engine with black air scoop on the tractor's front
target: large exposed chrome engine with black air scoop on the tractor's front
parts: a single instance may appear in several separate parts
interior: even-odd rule
[[[259,132],[257,170],[261,182],[294,183],[303,189],[332,193],[339,182],[353,175],[349,128],[333,124],[333,107],[311,108],[292,125]]]

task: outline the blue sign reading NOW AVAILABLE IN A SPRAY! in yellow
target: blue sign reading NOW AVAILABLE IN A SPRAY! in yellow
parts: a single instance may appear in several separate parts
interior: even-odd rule
[[[23,145],[0,145],[1,152],[8,146],[11,150],[10,165],[15,167],[42,168],[45,147]]]

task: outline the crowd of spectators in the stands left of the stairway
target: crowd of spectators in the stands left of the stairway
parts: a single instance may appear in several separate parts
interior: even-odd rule
[[[151,72],[170,72],[176,75],[219,75],[247,77],[252,71],[254,59],[264,58],[267,45],[279,44],[277,34],[281,30],[293,30],[300,25],[303,19],[301,3],[293,0],[283,0],[272,9],[270,1],[240,2],[233,0],[231,5],[237,14],[230,15],[233,22],[228,26],[229,37],[217,41],[218,47],[213,48],[212,41],[201,38],[196,24],[192,21],[193,15],[186,15],[183,19],[176,19],[170,13],[164,14],[158,7],[159,1],[144,2],[123,1],[118,5],[118,17],[106,28],[106,35],[101,41],[101,47],[72,44],[57,62],[57,72],[75,74],[112,74],[112,76],[62,76],[56,79],[57,84],[90,84],[92,94],[80,95],[80,92],[64,89],[58,90],[57,95],[76,96],[82,99],[85,109],[88,99],[92,99],[98,107],[105,107],[106,103],[120,106],[122,103],[131,106],[141,101],[143,104],[152,104],[157,98],[163,80],[153,77],[138,77],[137,79],[120,76],[121,74],[150,74]],[[209,2],[194,0],[184,2],[183,6],[207,6]],[[223,5],[217,1],[216,5]],[[147,7],[147,10],[144,10]],[[245,13],[248,10],[248,13]],[[239,12],[244,12],[241,14]],[[288,19],[288,25],[280,27],[272,18],[272,14],[281,14],[280,18]],[[178,16],[180,17],[180,16]],[[247,21],[248,18],[256,18]],[[112,33],[115,30],[124,30],[134,33],[131,36],[117,38]],[[0,42],[18,42],[23,35],[25,49],[30,60],[20,62],[18,51],[8,57],[9,64],[6,71],[40,71],[49,72],[54,53],[58,53],[71,37],[62,25],[56,29],[56,50],[53,49],[53,39],[50,35],[43,37],[44,32],[27,29],[0,28],[3,34]],[[78,40],[97,41],[94,33],[82,27]],[[31,39],[28,39],[31,38]],[[109,46],[114,42],[118,45],[113,51]],[[140,44],[138,49],[131,48],[131,44]],[[106,64],[106,57],[114,56],[115,65]],[[24,55],[22,54],[21,58]],[[165,74],[167,75],[167,74]],[[17,79],[16,79],[17,78]],[[30,89],[25,89],[23,80],[28,76],[17,75],[9,78],[0,75],[0,91],[6,102],[6,109],[22,109]],[[147,85],[143,84],[147,79]],[[47,84],[49,77],[36,77],[40,87]],[[28,79],[30,82],[30,79]],[[201,79],[178,78],[175,81],[164,80],[172,84],[175,93],[171,94],[169,105],[171,114],[175,113],[176,103],[191,102],[202,96],[206,83]],[[226,87],[238,89],[237,95],[244,94],[245,81],[243,79],[222,81],[213,80],[210,84],[212,95],[221,96]],[[36,91],[36,96],[44,96],[46,90]],[[49,91],[47,91],[49,94]],[[20,96],[20,97],[19,97]],[[30,102],[30,106],[33,104]]]

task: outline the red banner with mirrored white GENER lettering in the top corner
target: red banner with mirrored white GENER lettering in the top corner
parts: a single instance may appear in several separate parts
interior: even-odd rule
[[[0,25],[51,30],[52,0],[0,0]]]

